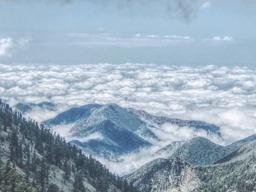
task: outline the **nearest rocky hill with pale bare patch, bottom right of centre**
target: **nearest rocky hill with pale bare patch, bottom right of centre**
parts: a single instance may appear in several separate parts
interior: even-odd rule
[[[200,185],[195,170],[181,158],[159,158],[125,176],[139,191],[189,191]],[[182,187],[181,187],[182,183]]]

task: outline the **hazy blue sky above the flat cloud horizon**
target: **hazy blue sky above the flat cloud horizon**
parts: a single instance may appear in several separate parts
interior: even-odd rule
[[[0,0],[0,63],[256,66],[252,0],[91,2]]]

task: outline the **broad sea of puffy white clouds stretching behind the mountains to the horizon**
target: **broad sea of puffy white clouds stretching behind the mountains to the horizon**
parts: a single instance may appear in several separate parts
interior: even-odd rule
[[[116,103],[215,123],[225,144],[256,132],[256,71],[245,67],[0,64],[0,96],[12,105],[59,104],[56,112],[29,114],[39,121],[73,106]]]

